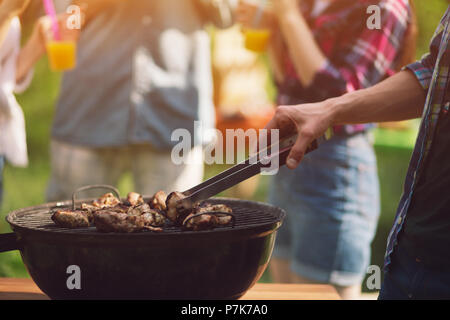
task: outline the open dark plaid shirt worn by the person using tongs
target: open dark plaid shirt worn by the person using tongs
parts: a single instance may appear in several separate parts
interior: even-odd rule
[[[385,256],[385,269],[397,245],[398,235],[403,227],[419,176],[429,154],[434,132],[440,115],[448,112],[450,106],[450,6],[431,41],[430,53],[405,69],[414,72],[423,89],[428,91],[422,123],[406,175],[404,191],[397,209],[394,226],[389,234]]]

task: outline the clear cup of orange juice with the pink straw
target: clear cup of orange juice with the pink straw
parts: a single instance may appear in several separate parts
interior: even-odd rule
[[[53,71],[67,71],[76,66],[76,43],[73,41],[48,42],[47,54]]]

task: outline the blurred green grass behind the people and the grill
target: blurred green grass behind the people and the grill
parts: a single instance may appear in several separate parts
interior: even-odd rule
[[[444,0],[417,0],[415,2],[420,26],[417,56],[421,56],[428,50],[429,39],[447,7],[447,2]],[[46,59],[42,59],[36,67],[31,87],[26,93],[18,96],[26,115],[30,165],[26,169],[7,166],[4,171],[5,195],[3,206],[0,209],[0,233],[10,232],[4,221],[8,212],[44,202],[50,172],[49,136],[59,81],[60,76],[49,72]],[[381,216],[372,244],[372,263],[377,265],[383,263],[386,239],[401,195],[414,133],[406,138],[404,135],[391,133],[387,134],[386,139],[386,132],[382,132],[381,136],[384,138],[380,138],[380,134],[377,136],[379,141],[383,139],[390,143],[380,143],[376,147],[381,181]],[[224,167],[208,166],[206,176],[210,177],[223,169]],[[265,201],[267,182],[267,177],[262,177],[254,200]],[[122,193],[126,193],[132,188],[130,176],[124,176],[119,189]],[[0,253],[1,276],[27,276],[18,252]],[[270,277],[266,274],[262,280],[270,281]]]

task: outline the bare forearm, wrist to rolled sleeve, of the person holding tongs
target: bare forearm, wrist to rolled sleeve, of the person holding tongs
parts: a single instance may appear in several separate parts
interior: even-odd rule
[[[422,115],[426,92],[410,71],[364,90],[328,100],[335,125],[401,121]]]

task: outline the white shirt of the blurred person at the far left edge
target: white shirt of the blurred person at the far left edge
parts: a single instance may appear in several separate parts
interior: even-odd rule
[[[11,20],[5,40],[0,44],[0,155],[15,166],[27,166],[28,154],[25,119],[14,93],[26,89],[30,72],[22,83],[16,83],[16,64],[20,52],[20,21]]]

